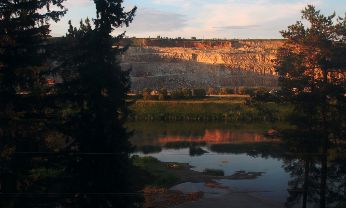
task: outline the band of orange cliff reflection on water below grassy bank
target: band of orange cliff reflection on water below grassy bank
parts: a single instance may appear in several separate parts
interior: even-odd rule
[[[284,123],[279,123],[281,125]],[[137,145],[164,145],[176,141],[204,141],[207,143],[235,143],[265,141],[263,134],[273,131],[271,123],[220,122],[130,122],[135,130],[131,139]]]

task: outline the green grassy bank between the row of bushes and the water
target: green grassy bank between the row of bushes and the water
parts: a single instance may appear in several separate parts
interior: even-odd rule
[[[220,97],[189,100],[144,101],[130,106],[130,120],[265,120],[268,116],[244,104],[243,97]],[[267,104],[273,107],[274,104]],[[285,119],[288,107],[281,107],[272,119]]]

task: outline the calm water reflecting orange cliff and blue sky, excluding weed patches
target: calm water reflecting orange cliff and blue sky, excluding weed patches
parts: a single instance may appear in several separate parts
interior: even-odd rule
[[[199,172],[202,172],[205,168],[223,169],[225,176],[232,175],[236,171],[263,172],[261,176],[252,180],[222,179],[217,181],[222,183],[221,186],[231,187],[227,190],[208,188],[203,186],[204,183],[182,183],[172,187],[172,190],[183,192],[204,191],[205,193],[232,192],[234,190],[240,190],[241,192],[258,191],[256,197],[270,197],[271,200],[283,206],[286,198],[290,196],[287,190],[292,189],[289,181],[299,181],[302,178],[301,174],[299,176],[291,176],[292,172],[299,172],[297,170],[302,169],[301,166],[297,165],[299,161],[303,162],[299,158],[285,158],[284,155],[282,157],[277,155],[251,157],[247,154],[219,154],[212,152],[209,148],[212,144],[267,141],[263,134],[272,132],[274,127],[289,128],[288,124],[283,122],[275,124],[266,122],[132,122],[128,123],[127,126],[129,130],[135,130],[134,136],[131,139],[133,144],[137,146],[154,145],[161,148],[155,154],[146,154],[152,155],[161,161],[188,162],[191,166],[195,166],[191,170]],[[199,146],[208,152],[192,157],[189,154],[188,147],[165,148],[165,144],[169,142],[202,142],[202,145]],[[319,166],[319,164],[313,165]],[[285,171],[283,167],[290,167],[290,170]],[[310,168],[311,175],[319,174],[312,170]],[[316,181],[313,181],[313,183],[318,183],[319,178],[314,180]],[[342,179],[340,180],[342,181]],[[299,181],[298,184],[301,186],[302,182]],[[254,195],[255,193],[250,194]],[[208,197],[210,195],[206,194],[205,196]],[[212,194],[212,197],[225,197],[225,194]],[[316,202],[316,197],[313,200]],[[301,200],[295,203],[295,206],[301,206]],[[314,207],[315,205],[310,204],[309,206]]]

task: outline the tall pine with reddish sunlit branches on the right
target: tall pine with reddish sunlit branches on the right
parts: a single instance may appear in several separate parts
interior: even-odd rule
[[[312,5],[301,12],[309,27],[297,21],[281,31],[288,41],[276,60],[281,90],[274,99],[294,107],[288,120],[298,127],[277,130],[270,138],[295,153],[321,153],[320,207],[325,207],[327,148],[332,140],[345,140],[346,24],[339,17],[334,25],[335,12],[325,17]]]

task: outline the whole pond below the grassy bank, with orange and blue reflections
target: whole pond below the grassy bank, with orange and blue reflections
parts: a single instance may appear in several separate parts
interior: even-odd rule
[[[172,190],[180,190],[184,193],[204,191],[205,207],[210,206],[208,200],[212,204],[215,203],[215,200],[213,200],[215,198],[222,198],[219,201],[219,206],[227,205],[228,200],[232,200],[235,205],[238,201],[239,206],[244,206],[245,201],[251,201],[250,199],[252,199],[249,206],[283,207],[285,202],[288,203],[288,199],[292,198],[290,197],[292,191],[290,193],[288,189],[294,190],[294,188],[297,188],[297,184],[302,183],[302,173],[298,176],[296,172],[302,169],[302,164],[306,163],[297,157],[286,157],[278,154],[220,153],[220,151],[213,149],[213,145],[216,144],[267,141],[263,135],[264,133],[274,131],[275,127],[290,127],[284,122],[146,121],[131,122],[127,124],[127,127],[129,131],[134,130],[131,142],[138,146],[135,154],[140,156],[152,155],[165,162],[188,162],[191,166],[195,166],[191,170],[199,172],[203,172],[205,168],[222,169],[225,171],[225,176],[232,175],[236,171],[263,172],[261,176],[252,180],[222,179],[217,181],[222,184],[221,186],[231,187],[227,190],[205,187],[203,186],[204,183],[182,183],[171,187]],[[197,146],[201,151],[191,153],[192,150],[189,146],[186,146],[186,143]],[[309,163],[309,165],[313,166],[310,168],[311,174],[317,175],[318,173],[312,172],[312,170],[318,169],[319,163]],[[335,185],[339,186],[339,183],[335,183]],[[308,198],[310,199],[308,207],[315,207],[317,199],[313,196],[316,195],[316,191],[311,193],[312,197]],[[294,196],[293,198],[294,202],[287,205],[301,207],[301,200],[297,200],[299,197]],[[333,204],[333,202],[329,204]],[[184,206],[189,207],[188,205]],[[199,206],[203,207],[202,204]]]

